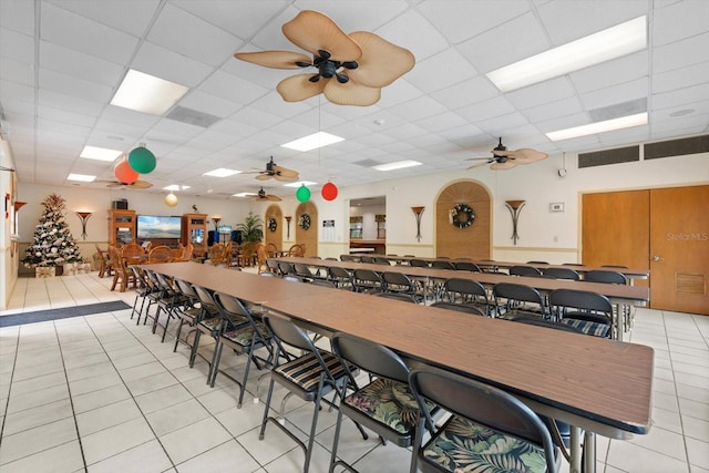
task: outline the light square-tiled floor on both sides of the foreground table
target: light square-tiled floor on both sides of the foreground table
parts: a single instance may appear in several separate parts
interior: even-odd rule
[[[123,299],[97,275],[21,278],[0,316]],[[304,455],[270,425],[258,440],[263,403],[254,370],[242,409],[238,388],[207,364],[187,367],[130,310],[0,329],[0,471],[12,472],[298,472]],[[203,338],[204,340],[204,338]],[[598,439],[598,471],[709,473],[709,317],[639,309],[630,340],[656,352],[654,426],[630,441]],[[208,353],[210,347],[204,349]],[[220,367],[239,371],[244,357]],[[260,383],[264,395],[266,382]],[[277,392],[279,405],[282,392]],[[593,393],[589,393],[593,395]],[[287,404],[301,438],[311,409]],[[336,414],[323,410],[312,472],[328,470]],[[345,424],[339,451],[360,472],[405,472],[410,452],[363,441]],[[565,465],[564,471],[568,471]]]

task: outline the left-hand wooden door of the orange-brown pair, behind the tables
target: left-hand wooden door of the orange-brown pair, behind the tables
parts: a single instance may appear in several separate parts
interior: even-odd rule
[[[649,202],[648,191],[584,194],[583,264],[649,269]]]

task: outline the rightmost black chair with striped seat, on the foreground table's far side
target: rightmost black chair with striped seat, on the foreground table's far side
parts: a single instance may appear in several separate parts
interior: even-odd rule
[[[549,292],[549,306],[555,319],[571,325],[586,335],[617,338],[613,304],[600,294],[576,289]],[[615,333],[614,333],[615,332]]]

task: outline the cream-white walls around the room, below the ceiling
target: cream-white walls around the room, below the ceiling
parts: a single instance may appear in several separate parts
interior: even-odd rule
[[[709,183],[709,153],[667,157],[636,163],[615,164],[579,169],[575,155],[566,156],[566,177],[559,177],[557,169],[562,167],[562,156],[528,165],[517,166],[508,171],[494,172],[486,167],[470,171],[455,171],[431,174],[420,177],[392,178],[360,186],[339,189],[338,198],[327,202],[320,197],[319,189],[314,189],[311,199],[318,207],[318,229],[322,220],[333,219],[336,223],[335,240],[320,243],[318,254],[321,257],[339,256],[349,247],[349,212],[350,200],[371,196],[387,197],[387,253],[414,254],[418,256],[435,256],[433,235],[434,203],[438,194],[449,184],[460,179],[474,179],[490,189],[493,198],[493,248],[492,257],[500,260],[525,261],[543,259],[551,263],[574,263],[580,253],[580,195],[589,192],[635,189],[650,187],[670,187],[688,184]],[[392,174],[395,176],[395,172]],[[307,176],[304,176],[307,177]],[[7,177],[0,178],[6,183]],[[337,183],[336,183],[337,184]],[[20,183],[19,200],[28,202],[20,210],[20,236],[25,243],[31,240],[34,225],[41,214],[41,202],[47,195],[56,192],[66,199],[66,216],[74,238],[81,235],[81,224],[74,215],[76,210],[90,210],[94,215],[86,226],[86,244],[107,241],[106,210],[111,202],[120,197],[129,199],[129,206],[137,213],[157,215],[182,215],[191,213],[196,204],[201,213],[220,214],[225,225],[236,225],[253,210],[264,215],[268,204],[255,202],[236,202],[234,199],[208,199],[204,197],[184,197],[177,195],[176,207],[167,207],[162,195],[138,193],[131,189],[104,191],[83,187],[49,187]],[[520,214],[517,245],[513,245],[512,219],[504,206],[505,200],[524,199],[525,207]],[[563,203],[563,213],[551,213],[551,203]],[[298,200],[292,196],[279,203],[284,216],[291,215],[290,240],[295,240],[297,225],[296,208]],[[425,206],[421,220],[421,241],[415,239],[415,218],[412,206]],[[612,216],[609,216],[610,218]],[[7,220],[3,220],[7,222]],[[4,225],[4,224],[3,224]],[[280,223],[284,225],[285,222]],[[2,254],[7,255],[9,230],[3,232],[4,240],[0,240]],[[285,238],[285,233],[284,233]],[[14,285],[12,267],[8,267],[7,256],[3,263],[6,275],[6,298]],[[9,287],[9,289],[8,289]],[[0,292],[0,295],[2,295]],[[2,302],[4,299],[0,299]]]

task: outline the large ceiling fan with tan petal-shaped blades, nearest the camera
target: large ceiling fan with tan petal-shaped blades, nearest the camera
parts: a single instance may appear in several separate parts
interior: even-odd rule
[[[316,68],[315,74],[298,74],[280,81],[276,89],[286,102],[299,102],[322,93],[339,105],[371,105],[381,97],[381,88],[409,72],[415,62],[409,50],[368,31],[346,34],[328,17],[312,10],[301,11],[281,30],[290,42],[312,54],[312,59],[291,51],[234,55],[266,68]]]

